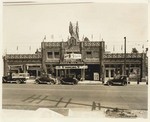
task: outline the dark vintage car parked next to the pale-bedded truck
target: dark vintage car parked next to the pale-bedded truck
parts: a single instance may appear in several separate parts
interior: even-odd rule
[[[44,76],[41,76],[37,79],[35,79],[35,83],[37,84],[56,84],[56,79],[55,78],[52,78],[52,77],[49,77],[49,75],[44,75]]]

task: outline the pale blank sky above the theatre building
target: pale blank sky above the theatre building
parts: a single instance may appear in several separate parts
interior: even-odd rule
[[[106,51],[123,53],[124,37],[129,53],[148,47],[146,3],[41,3],[3,4],[3,55],[35,53],[45,35],[45,42],[67,41],[70,21],[78,21],[80,40],[103,40]]]

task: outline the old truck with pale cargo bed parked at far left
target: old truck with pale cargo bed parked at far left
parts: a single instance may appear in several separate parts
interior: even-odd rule
[[[7,76],[2,77],[3,83],[25,83],[29,78],[28,73],[8,73]]]

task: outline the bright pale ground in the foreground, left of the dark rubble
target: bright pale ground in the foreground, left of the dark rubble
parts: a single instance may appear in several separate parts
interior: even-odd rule
[[[64,116],[59,111],[64,112],[68,111],[68,115]],[[58,111],[58,110],[57,110]],[[58,112],[55,112],[53,109],[48,108],[39,108],[37,110],[15,110],[15,109],[2,109],[2,118],[7,119],[10,118],[95,118],[95,117],[105,117],[104,111],[96,110],[91,111],[89,109],[84,108],[73,108],[73,109],[66,109],[60,108]]]

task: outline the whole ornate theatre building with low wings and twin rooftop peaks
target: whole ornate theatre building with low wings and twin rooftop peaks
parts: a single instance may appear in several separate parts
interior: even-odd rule
[[[6,54],[3,75],[24,72],[36,78],[45,72],[56,78],[73,74],[81,80],[102,82],[117,74],[139,76],[140,80],[148,76],[146,53],[107,53],[103,40],[79,39],[78,22],[75,26],[70,22],[69,33],[66,41],[41,42],[35,54]]]

